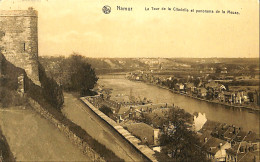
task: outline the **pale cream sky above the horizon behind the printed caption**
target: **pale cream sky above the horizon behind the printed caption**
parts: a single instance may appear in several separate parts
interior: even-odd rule
[[[0,0],[0,9],[30,6],[38,11],[39,56],[259,57],[258,0]]]

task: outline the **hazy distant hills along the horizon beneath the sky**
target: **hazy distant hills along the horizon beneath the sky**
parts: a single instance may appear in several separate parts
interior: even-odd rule
[[[58,73],[58,69],[66,62],[63,56],[41,56],[39,61],[47,74]],[[156,69],[196,69],[205,67],[228,66],[248,68],[248,65],[259,67],[258,58],[89,58],[85,61],[96,70],[97,74],[112,72],[129,72],[135,70]],[[56,71],[56,72],[55,72]]]

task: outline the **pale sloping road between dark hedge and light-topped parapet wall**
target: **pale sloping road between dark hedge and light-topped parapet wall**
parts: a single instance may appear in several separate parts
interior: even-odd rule
[[[142,161],[140,154],[133,146],[126,142],[109,125],[102,122],[95,113],[73,95],[64,93],[64,115],[81,126],[86,132],[98,142],[113,151],[118,157],[125,161]]]

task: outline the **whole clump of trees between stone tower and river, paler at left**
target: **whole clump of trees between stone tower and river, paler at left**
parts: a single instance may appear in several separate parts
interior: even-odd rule
[[[47,69],[48,76],[62,85],[64,90],[78,92],[81,96],[92,94],[91,89],[98,78],[86,57],[73,53],[68,58],[41,58],[40,62]]]

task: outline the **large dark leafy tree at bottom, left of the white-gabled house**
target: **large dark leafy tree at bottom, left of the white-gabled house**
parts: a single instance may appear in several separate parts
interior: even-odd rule
[[[171,153],[173,161],[207,161],[195,132],[186,124],[189,120],[190,114],[182,110],[170,112],[165,123],[168,128],[164,129],[160,138],[161,145],[164,146],[162,152]],[[174,128],[169,125],[169,121]]]

